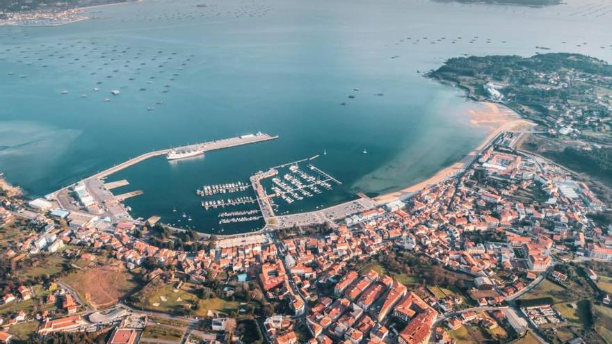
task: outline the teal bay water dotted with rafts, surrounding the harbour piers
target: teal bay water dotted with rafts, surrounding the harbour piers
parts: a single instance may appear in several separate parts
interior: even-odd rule
[[[95,19],[0,27],[0,171],[38,197],[154,149],[280,136],[174,163],[153,158],[108,178],[130,182],[115,193],[144,191],[126,201],[134,217],[225,234],[261,223],[220,225],[219,211],[255,207],[204,211],[200,202],[252,191],[200,197],[197,188],[320,154],[313,165],[342,184],[277,202],[280,213],[309,211],[417,183],[474,149],[487,136],[469,124],[479,105],[422,76],[447,58],[570,51],[612,60],[603,0],[145,0],[87,15]]]

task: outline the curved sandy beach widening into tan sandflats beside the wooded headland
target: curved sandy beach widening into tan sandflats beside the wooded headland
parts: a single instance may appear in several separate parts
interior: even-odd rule
[[[398,199],[404,199],[405,197],[408,197],[408,195],[416,193],[426,186],[444,181],[444,179],[452,177],[453,175],[462,171],[469,161],[472,160],[472,157],[476,156],[479,151],[486,147],[491,140],[493,140],[502,131],[524,130],[534,125],[533,123],[522,119],[522,117],[515,113],[514,110],[511,110],[506,106],[497,103],[483,104],[485,105],[483,110],[469,110],[470,124],[490,131],[489,135],[480,145],[478,145],[478,147],[474,148],[473,151],[470,151],[469,154],[467,154],[467,156],[461,161],[453,163],[453,165],[448,167],[444,167],[442,170],[436,172],[436,174],[434,174],[432,177],[401,190],[375,197],[374,201],[377,204],[385,204]]]

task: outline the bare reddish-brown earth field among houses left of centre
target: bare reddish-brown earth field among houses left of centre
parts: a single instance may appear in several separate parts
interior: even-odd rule
[[[118,302],[139,285],[121,263],[74,272],[61,281],[77,290],[79,296],[94,308]]]

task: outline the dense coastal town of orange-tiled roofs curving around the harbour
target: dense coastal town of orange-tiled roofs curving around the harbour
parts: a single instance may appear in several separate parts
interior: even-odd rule
[[[86,216],[5,183],[0,343],[605,343],[606,204],[521,135],[405,199],[236,236]]]

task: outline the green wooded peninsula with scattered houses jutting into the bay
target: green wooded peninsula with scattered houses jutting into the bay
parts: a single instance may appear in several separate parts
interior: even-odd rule
[[[536,122],[540,133],[524,147],[609,183],[612,66],[605,61],[564,53],[469,56],[451,58],[428,76]]]

